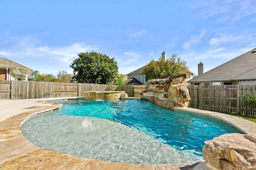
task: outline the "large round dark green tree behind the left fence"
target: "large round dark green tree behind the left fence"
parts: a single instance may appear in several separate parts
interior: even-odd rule
[[[78,54],[70,67],[78,83],[108,84],[118,73],[118,66],[114,58],[94,51]]]

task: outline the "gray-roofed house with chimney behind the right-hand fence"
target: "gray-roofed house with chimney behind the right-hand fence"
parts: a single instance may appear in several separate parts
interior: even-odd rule
[[[198,74],[203,72],[202,63],[198,64]],[[212,70],[188,81],[194,85],[256,85],[256,49],[252,49]]]

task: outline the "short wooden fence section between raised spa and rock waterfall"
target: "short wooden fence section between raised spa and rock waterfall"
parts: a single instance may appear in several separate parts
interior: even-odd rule
[[[124,85],[121,91],[125,91],[128,97],[140,98],[140,94],[146,90],[145,85]]]

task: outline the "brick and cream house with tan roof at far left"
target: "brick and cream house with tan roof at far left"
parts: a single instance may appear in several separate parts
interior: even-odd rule
[[[0,58],[0,80],[26,80],[28,74],[32,74],[32,69],[15,63],[6,58]],[[30,77],[32,78],[32,77]]]

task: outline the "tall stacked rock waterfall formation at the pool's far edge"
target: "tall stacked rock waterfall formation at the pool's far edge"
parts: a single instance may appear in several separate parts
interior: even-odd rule
[[[187,74],[180,74],[165,79],[149,80],[147,91],[143,92],[141,99],[150,101],[164,109],[188,107],[190,96],[186,78],[188,78]]]

